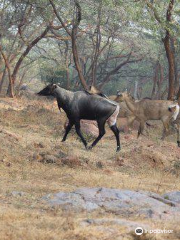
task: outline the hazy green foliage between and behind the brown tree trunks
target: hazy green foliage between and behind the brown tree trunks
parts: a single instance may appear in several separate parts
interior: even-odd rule
[[[14,54],[15,60],[11,68],[15,65],[18,57],[22,54],[28,41],[34,39],[53,20],[54,26],[60,26],[59,20],[54,16],[49,0],[7,0],[5,8],[0,6],[2,16],[1,43],[5,53]],[[65,23],[69,23],[71,31],[71,21],[73,20],[74,5],[71,0],[54,0],[56,9]],[[166,22],[166,10],[169,4],[167,0],[153,1],[153,8],[148,7],[147,2],[152,1],[123,1],[123,0],[81,0],[82,21],[78,29],[77,46],[80,64],[88,84],[92,83],[91,71],[88,69],[92,65],[95,56],[95,46],[97,42],[97,23],[100,24],[100,46],[99,51],[104,48],[97,59],[96,85],[100,85],[107,74],[116,66],[123,63],[127,57],[113,58],[120,53],[128,55],[132,52],[130,60],[142,58],[142,61],[126,64],[110,77],[109,82],[104,87],[107,94],[115,94],[117,89],[129,88],[133,92],[135,81],[143,86],[143,95],[150,95],[152,91],[154,69],[157,61],[163,66],[164,78],[168,73],[168,64],[163,48],[162,37],[166,29],[169,29],[175,37],[175,50],[177,59],[180,50],[179,31],[179,9],[178,1],[173,11],[173,21]],[[23,36],[26,43],[18,35],[18,24],[21,22],[26,8],[33,7],[30,17],[26,19],[26,27]],[[158,16],[156,20],[154,13]],[[37,29],[35,31],[35,29]],[[61,38],[68,34],[63,28],[56,30],[56,34]],[[32,38],[29,39],[29,37]],[[19,47],[20,46],[20,47]],[[21,47],[22,46],[22,47]],[[111,60],[107,60],[111,58]],[[31,64],[31,61],[34,60]],[[29,65],[28,65],[29,64]],[[48,36],[41,40],[24,60],[24,66],[31,66],[33,70],[39,72],[39,78],[44,82],[60,82],[61,86],[67,86],[67,72],[71,89],[81,88],[77,71],[72,56],[71,40],[64,41],[53,37],[53,31],[49,31]],[[4,69],[2,65],[1,70]],[[179,70],[179,69],[178,69]],[[27,70],[31,76],[31,68]],[[23,72],[23,68],[20,70]],[[167,79],[167,78],[166,78]],[[166,80],[167,82],[167,80]],[[166,85],[163,84],[163,88]]]

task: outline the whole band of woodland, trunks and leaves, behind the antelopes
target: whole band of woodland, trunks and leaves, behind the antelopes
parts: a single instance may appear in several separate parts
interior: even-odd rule
[[[0,94],[22,84],[180,96],[177,0],[0,0]]]

